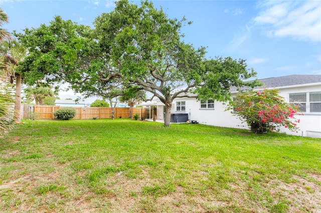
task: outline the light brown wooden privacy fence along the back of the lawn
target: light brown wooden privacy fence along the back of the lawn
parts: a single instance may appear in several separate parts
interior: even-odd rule
[[[54,111],[60,107],[54,105],[35,105],[33,113],[36,119],[55,119]],[[73,119],[111,118],[111,107],[73,107],[76,109],[76,116]],[[146,116],[146,108],[133,107],[132,115]],[[116,107],[115,118],[129,117],[129,107]]]

